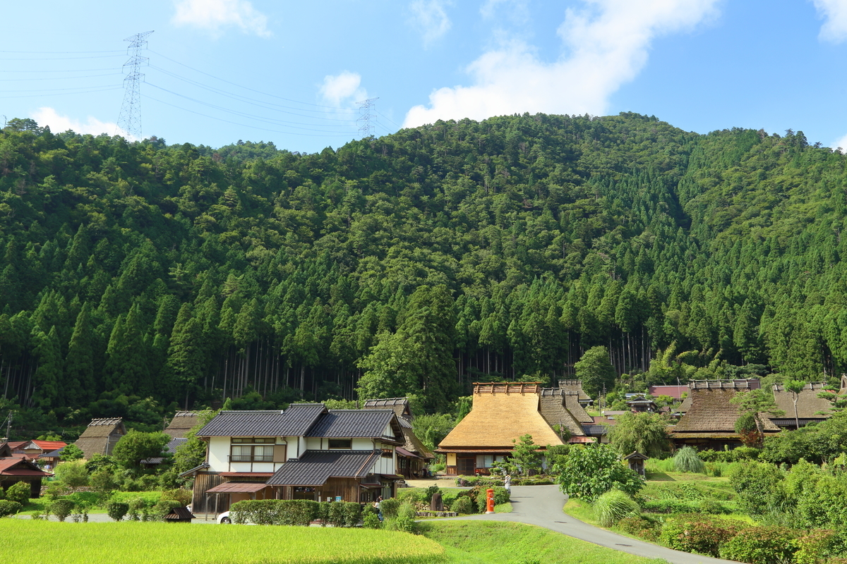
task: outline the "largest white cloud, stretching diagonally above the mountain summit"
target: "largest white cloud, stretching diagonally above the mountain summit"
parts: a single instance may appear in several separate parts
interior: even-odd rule
[[[567,10],[558,29],[565,54],[556,62],[540,60],[524,41],[502,41],[468,66],[473,85],[435,90],[429,107],[409,110],[404,127],[515,112],[601,114],[609,96],[644,67],[656,36],[699,24],[718,2],[583,1],[583,9]]]

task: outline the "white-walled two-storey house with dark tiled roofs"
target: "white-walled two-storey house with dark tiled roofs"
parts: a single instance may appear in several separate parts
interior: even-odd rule
[[[405,444],[392,409],[222,411],[197,432],[208,442],[193,475],[194,512],[224,512],[244,499],[374,501],[396,494],[396,447]]]

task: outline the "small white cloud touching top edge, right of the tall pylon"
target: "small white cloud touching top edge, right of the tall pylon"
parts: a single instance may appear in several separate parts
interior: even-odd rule
[[[269,37],[268,18],[248,0],[174,0],[176,14],[171,19],[175,25],[191,25],[203,30],[221,33],[222,28],[235,25],[244,33]]]

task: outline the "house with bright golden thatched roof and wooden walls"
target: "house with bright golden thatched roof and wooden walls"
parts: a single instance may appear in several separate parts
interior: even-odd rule
[[[540,399],[537,382],[474,384],[471,412],[435,449],[447,455],[447,474],[488,474],[522,435],[532,435],[542,449],[562,445],[541,415]]]

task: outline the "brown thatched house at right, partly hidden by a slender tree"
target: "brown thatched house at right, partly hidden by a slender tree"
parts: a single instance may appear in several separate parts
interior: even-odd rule
[[[689,382],[691,407],[676,425],[668,429],[673,442],[677,446],[692,445],[716,450],[724,445],[740,446],[741,438],[735,432],[739,408],[730,400],[736,393],[749,389],[747,381]],[[766,435],[779,431],[764,413],[760,419]]]

